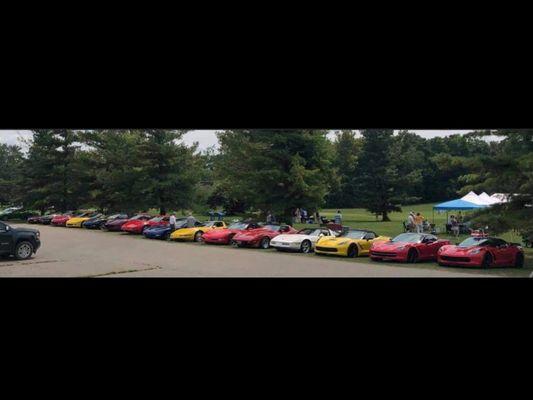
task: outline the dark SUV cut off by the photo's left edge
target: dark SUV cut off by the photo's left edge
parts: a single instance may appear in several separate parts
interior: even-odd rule
[[[26,260],[41,246],[40,236],[37,229],[13,228],[0,222],[0,256],[12,255],[17,260]]]

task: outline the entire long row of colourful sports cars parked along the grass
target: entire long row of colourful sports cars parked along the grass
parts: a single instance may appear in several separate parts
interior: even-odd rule
[[[278,251],[314,252],[316,255],[340,257],[368,256],[373,261],[416,263],[437,261],[441,266],[523,267],[524,251],[517,243],[485,234],[467,238],[453,245],[428,233],[402,233],[394,238],[380,236],[366,229],[344,228],[342,232],[328,227],[305,228],[297,231],[289,225],[238,221],[200,222],[178,218],[175,230],[169,216],[126,214],[105,216],[99,213],[72,213],[31,217],[29,223],[51,224],[69,228],[103,229],[142,234],[148,239],[195,241],[205,244],[237,247],[273,247]],[[191,225],[193,225],[191,227]]]

